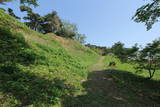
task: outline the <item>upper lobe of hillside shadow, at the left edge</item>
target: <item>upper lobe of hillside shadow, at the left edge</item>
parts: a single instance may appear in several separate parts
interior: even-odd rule
[[[44,57],[30,47],[21,33],[12,33],[9,28],[0,26],[1,72],[13,73],[19,71],[18,64],[29,66],[40,59]]]

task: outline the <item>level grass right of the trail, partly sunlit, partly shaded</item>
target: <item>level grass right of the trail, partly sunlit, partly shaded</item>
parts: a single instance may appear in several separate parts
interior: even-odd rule
[[[108,66],[112,61],[116,62],[115,67]],[[122,93],[122,98],[129,104],[128,107],[160,106],[160,71],[148,80],[148,71],[137,73],[134,64],[121,63],[116,57],[107,56],[104,63],[106,73],[116,83],[119,93]]]

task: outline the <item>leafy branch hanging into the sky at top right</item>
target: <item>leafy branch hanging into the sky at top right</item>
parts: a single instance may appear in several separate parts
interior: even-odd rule
[[[137,23],[145,23],[147,30],[150,30],[160,17],[160,0],[152,0],[151,3],[137,9],[133,20]]]

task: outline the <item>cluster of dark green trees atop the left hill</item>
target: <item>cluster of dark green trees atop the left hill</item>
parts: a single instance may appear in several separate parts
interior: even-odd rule
[[[56,11],[40,16],[38,13],[34,13],[31,8],[27,6],[20,7],[22,12],[27,12],[27,16],[23,19],[27,20],[26,25],[32,30],[41,32],[41,33],[56,33],[61,29],[61,20],[57,16]]]

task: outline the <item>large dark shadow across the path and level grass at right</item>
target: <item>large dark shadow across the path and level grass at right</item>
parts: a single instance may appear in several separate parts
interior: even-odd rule
[[[66,98],[64,107],[160,107],[160,81],[127,71],[94,71],[82,84],[86,94]]]

